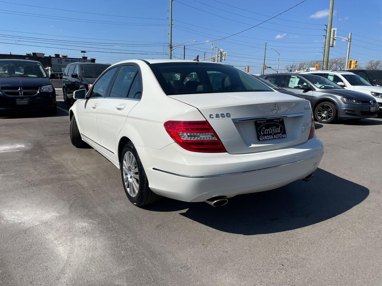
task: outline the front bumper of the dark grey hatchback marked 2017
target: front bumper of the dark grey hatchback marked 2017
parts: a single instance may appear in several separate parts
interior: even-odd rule
[[[338,118],[352,119],[352,118],[372,118],[376,117],[379,110],[378,104],[373,104],[376,107],[376,111],[370,111],[370,104],[346,104],[342,101],[337,101],[339,106]]]

